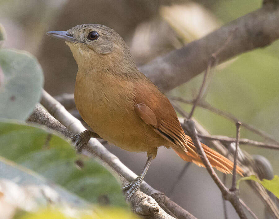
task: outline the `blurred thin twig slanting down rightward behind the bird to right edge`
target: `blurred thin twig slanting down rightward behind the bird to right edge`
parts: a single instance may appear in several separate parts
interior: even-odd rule
[[[168,98],[171,99],[171,100],[175,100],[175,101],[179,101],[179,102],[187,103],[187,104],[193,104],[194,103],[194,100],[187,100],[187,99],[184,99],[182,97],[176,97],[176,96],[168,95]],[[199,107],[202,107],[204,109],[207,109],[207,110],[209,110],[211,112],[214,112],[217,115],[220,115],[220,116],[223,116],[223,117],[225,117],[227,119],[230,119],[230,120],[232,120],[235,123],[240,121],[235,116],[233,116],[231,113],[225,112],[225,111],[220,110],[220,109],[217,109],[217,108],[211,106],[206,101],[200,101],[196,105],[199,106]],[[268,134],[267,132],[264,132],[264,131],[262,131],[260,129],[257,129],[257,128],[253,127],[252,125],[249,125],[249,124],[244,123],[242,121],[241,121],[241,124],[242,124],[243,127],[245,127],[246,129],[250,130],[251,132],[254,132],[255,134],[258,134],[259,136],[262,136],[263,138],[265,138],[265,139],[267,139],[267,140],[269,140],[271,142],[279,144],[279,141],[277,141],[272,135]]]

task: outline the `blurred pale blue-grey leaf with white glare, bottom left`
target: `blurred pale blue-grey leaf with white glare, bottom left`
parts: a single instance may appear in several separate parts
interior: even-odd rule
[[[84,199],[73,195],[60,186],[47,181],[44,177],[24,168],[11,160],[0,156],[0,191],[3,195],[8,195],[10,200],[20,197],[21,200],[32,199],[36,207],[47,206],[49,200],[52,204],[63,207],[89,208],[90,204]],[[3,187],[4,185],[4,187]],[[6,185],[6,186],[5,186]],[[33,192],[42,191],[42,192]],[[15,201],[15,200],[14,200]],[[14,208],[25,207],[23,203]],[[30,206],[26,206],[27,208]]]

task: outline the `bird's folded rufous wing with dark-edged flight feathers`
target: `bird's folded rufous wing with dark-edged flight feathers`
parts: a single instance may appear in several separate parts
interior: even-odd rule
[[[135,112],[162,138],[187,152],[184,131],[169,100],[155,85],[145,82],[135,87]]]

